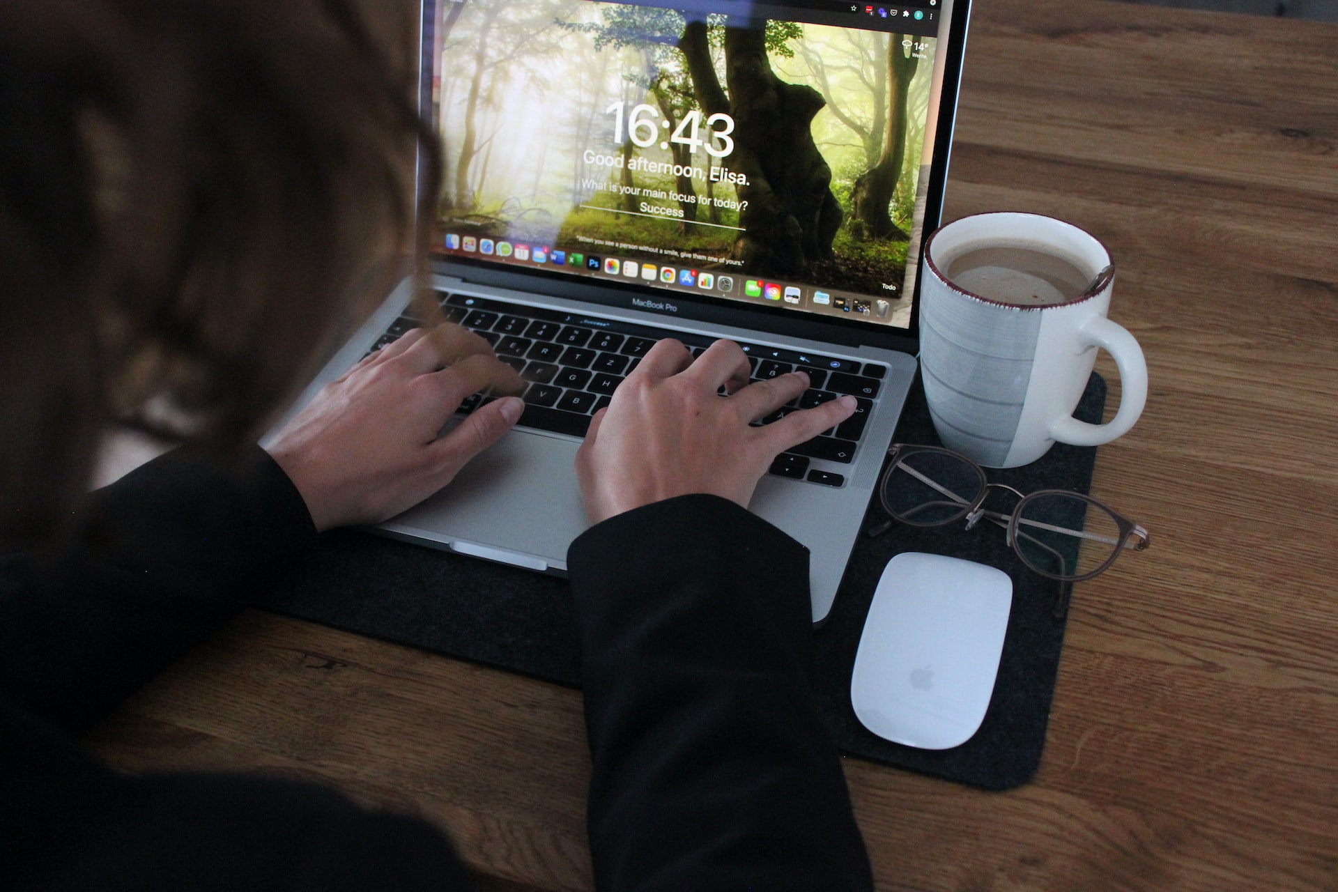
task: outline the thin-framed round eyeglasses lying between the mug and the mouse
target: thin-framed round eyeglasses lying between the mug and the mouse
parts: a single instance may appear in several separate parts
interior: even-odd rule
[[[1037,489],[1024,495],[1002,483],[987,483],[981,465],[951,449],[894,444],[892,463],[883,473],[879,497],[895,522],[939,527],[982,519],[1006,531],[1008,544],[1022,563],[1042,576],[1081,582],[1105,571],[1121,551],[1148,547],[1148,531],[1092,496],[1070,489]],[[991,489],[1021,499],[1013,514],[982,506]],[[870,528],[886,532],[892,520]]]

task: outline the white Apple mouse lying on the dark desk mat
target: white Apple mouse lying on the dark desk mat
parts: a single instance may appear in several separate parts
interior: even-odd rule
[[[990,705],[1012,606],[1013,580],[1001,570],[921,552],[892,558],[855,654],[855,715],[896,744],[965,744]]]

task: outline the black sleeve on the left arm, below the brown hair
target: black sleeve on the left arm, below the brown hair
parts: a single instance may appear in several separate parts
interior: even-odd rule
[[[316,538],[262,449],[177,451],[90,496],[79,542],[0,566],[0,695],[80,730],[235,614]]]

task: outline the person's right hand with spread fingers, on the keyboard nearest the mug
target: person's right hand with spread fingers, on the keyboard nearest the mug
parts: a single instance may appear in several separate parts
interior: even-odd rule
[[[855,412],[855,399],[844,396],[749,427],[803,393],[808,376],[791,372],[756,384],[748,376],[748,357],[733,341],[716,341],[696,362],[674,340],[650,348],[595,413],[577,452],[590,522],[696,492],[747,508],[776,455]],[[721,386],[731,395],[720,396]]]

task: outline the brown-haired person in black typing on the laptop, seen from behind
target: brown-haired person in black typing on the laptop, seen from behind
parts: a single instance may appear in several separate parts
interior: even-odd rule
[[[131,776],[79,742],[320,531],[448,485],[519,417],[506,396],[438,436],[466,396],[522,385],[440,325],[254,445],[411,229],[432,136],[401,87],[343,0],[0,7],[4,888],[470,888],[417,818],[289,780]],[[661,341],[578,453],[599,889],[872,887],[807,686],[805,552],[745,508],[852,407],[752,428],[805,381],[747,381],[735,344]],[[183,445],[87,493],[111,423]]]

